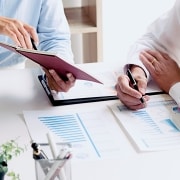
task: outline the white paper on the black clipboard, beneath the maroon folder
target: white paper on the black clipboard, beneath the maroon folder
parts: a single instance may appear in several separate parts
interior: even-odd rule
[[[75,86],[68,92],[52,93],[54,100],[117,95],[115,90],[115,84],[117,81],[116,72],[104,71],[91,74],[103,84],[85,80],[76,80]]]

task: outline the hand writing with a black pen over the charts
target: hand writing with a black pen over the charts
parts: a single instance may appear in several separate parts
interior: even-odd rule
[[[145,94],[147,79],[144,71],[138,66],[132,67],[131,72],[137,82],[139,91],[130,86],[130,79],[127,75],[121,75],[116,84],[117,96],[129,109],[138,110],[146,107],[146,101],[149,100],[149,96],[143,96],[144,103],[140,101],[142,95]]]

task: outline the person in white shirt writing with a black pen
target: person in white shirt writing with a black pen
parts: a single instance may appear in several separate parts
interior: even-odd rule
[[[146,107],[149,96],[145,95],[148,81],[152,78],[180,107],[180,0],[157,20],[130,48],[128,62],[138,89],[134,90],[127,75],[118,77],[117,96],[128,108]],[[144,99],[144,103],[140,98]]]

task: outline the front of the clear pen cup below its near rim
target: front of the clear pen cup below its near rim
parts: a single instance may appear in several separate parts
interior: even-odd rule
[[[35,161],[36,180],[71,180],[71,158]]]

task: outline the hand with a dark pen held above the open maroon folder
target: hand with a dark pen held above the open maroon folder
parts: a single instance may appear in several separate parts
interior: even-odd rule
[[[32,49],[30,37],[38,43],[35,29],[21,21],[0,16],[0,34],[9,36],[17,46]]]

